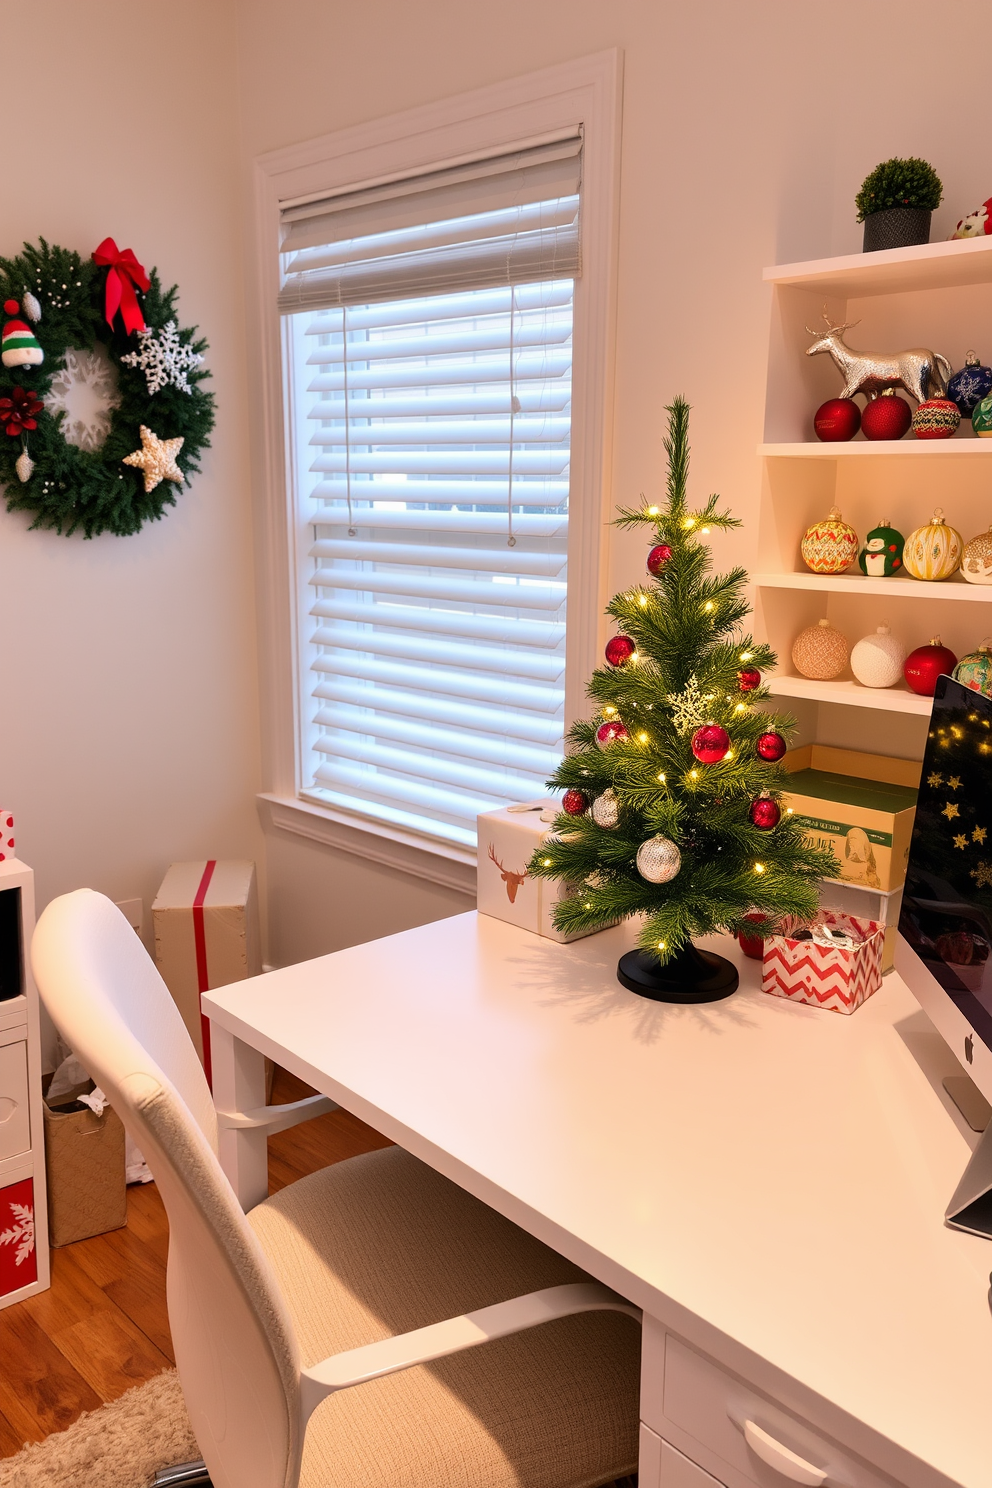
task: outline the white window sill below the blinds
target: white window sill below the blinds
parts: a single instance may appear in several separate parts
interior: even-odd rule
[[[412,878],[425,878],[457,893],[476,894],[476,854],[468,848],[428,842],[425,838],[385,827],[373,821],[358,821],[333,806],[317,806],[293,796],[262,792],[256,796],[259,818],[265,832],[287,832],[292,836],[333,847],[339,853],[384,863]]]

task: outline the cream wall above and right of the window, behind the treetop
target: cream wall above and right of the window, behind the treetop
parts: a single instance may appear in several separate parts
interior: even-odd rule
[[[992,190],[986,60],[974,9],[837,0],[275,0],[239,6],[241,149],[278,146],[620,46],[626,57],[614,496],[657,491],[663,405],[695,405],[699,494],[754,516],[769,296],[764,263],[857,251],[852,198],[889,155],[924,155],[946,204],[934,237]],[[986,333],[988,333],[988,327]],[[976,345],[986,360],[992,338]],[[640,576],[637,534],[611,534],[613,588]],[[733,557],[756,561],[754,522]],[[718,561],[729,548],[715,545]],[[839,711],[839,710],[831,710]],[[851,711],[851,710],[848,710]],[[326,906],[323,927],[281,952],[367,933],[339,912],[354,859],[280,842],[277,903]],[[452,912],[458,896],[396,882],[373,866],[379,933]]]

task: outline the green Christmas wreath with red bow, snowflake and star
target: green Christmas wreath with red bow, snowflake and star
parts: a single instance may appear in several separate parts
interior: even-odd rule
[[[70,536],[126,537],[175,504],[210,443],[207,342],[129,248],[0,257],[0,484],[9,510]]]

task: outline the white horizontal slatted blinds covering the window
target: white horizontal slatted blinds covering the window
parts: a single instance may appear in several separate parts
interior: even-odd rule
[[[512,159],[385,198],[382,232],[308,204],[284,253],[303,795],[463,847],[562,744],[579,153]],[[494,210],[422,220],[494,180]]]

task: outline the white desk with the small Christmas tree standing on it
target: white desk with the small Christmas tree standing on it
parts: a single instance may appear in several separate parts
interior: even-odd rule
[[[782,1488],[744,1417],[828,1485],[992,1488],[992,1245],[941,1222],[970,1143],[910,992],[842,1018],[744,960],[665,1006],[631,940],[467,914],[210,992],[219,1106],[269,1055],[644,1308],[641,1488]],[[265,1138],[225,1143],[257,1202]]]

